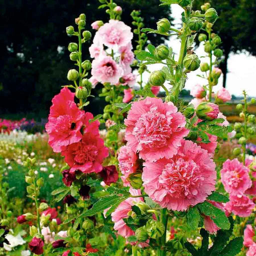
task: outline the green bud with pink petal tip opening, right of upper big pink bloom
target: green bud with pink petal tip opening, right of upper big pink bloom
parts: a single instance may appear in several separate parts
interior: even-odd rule
[[[213,120],[219,113],[218,105],[211,102],[200,103],[196,110],[196,115],[202,120]]]

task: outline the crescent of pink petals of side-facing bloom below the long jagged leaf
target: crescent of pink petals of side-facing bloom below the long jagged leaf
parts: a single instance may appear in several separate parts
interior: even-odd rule
[[[132,195],[141,194],[139,189],[130,188],[129,191]],[[128,217],[127,213],[131,210],[131,206],[139,201],[144,200],[142,197],[129,197],[126,200],[122,201],[111,213],[112,221],[114,222],[114,230],[117,230],[117,233],[125,238],[134,235],[134,231],[125,224],[123,218]]]

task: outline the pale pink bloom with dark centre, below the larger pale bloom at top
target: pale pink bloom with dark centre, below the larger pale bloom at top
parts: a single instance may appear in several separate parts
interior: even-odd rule
[[[123,70],[110,56],[99,55],[92,60],[91,75],[101,83],[116,84],[123,75]]]

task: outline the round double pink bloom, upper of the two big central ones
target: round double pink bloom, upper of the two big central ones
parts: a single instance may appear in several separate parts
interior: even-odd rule
[[[127,146],[147,161],[171,158],[189,132],[172,102],[151,97],[133,102],[124,124]]]

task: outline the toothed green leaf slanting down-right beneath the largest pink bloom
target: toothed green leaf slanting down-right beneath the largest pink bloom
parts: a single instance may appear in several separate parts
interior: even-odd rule
[[[225,213],[211,203],[204,201],[197,204],[199,210],[206,216],[209,216],[213,222],[222,229],[229,229],[230,222]]]

